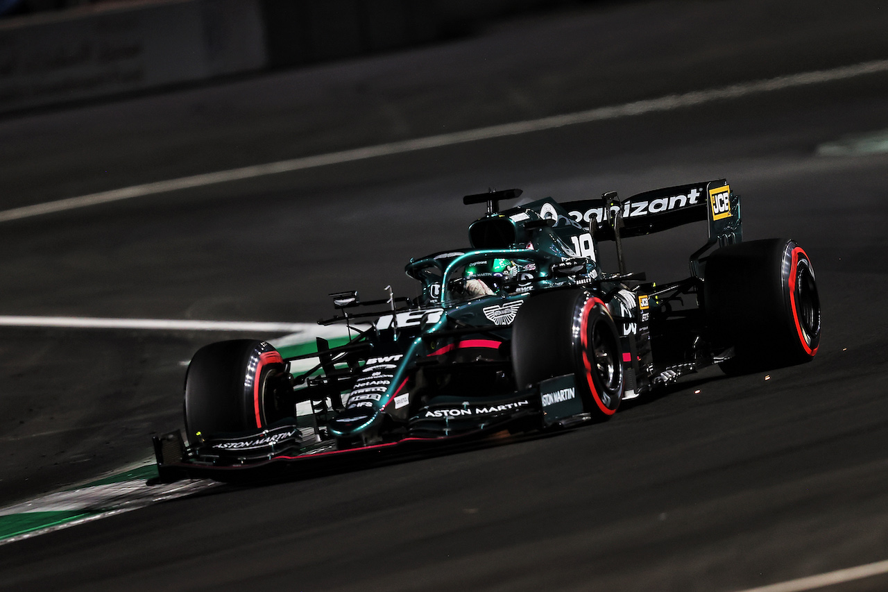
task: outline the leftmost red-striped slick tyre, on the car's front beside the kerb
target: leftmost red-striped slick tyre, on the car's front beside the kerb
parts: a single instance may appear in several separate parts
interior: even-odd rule
[[[273,423],[277,418],[266,393],[270,381],[284,372],[281,354],[265,341],[218,341],[198,349],[185,378],[189,440]]]

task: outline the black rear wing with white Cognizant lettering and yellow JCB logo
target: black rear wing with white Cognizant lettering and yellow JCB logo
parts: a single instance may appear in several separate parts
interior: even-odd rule
[[[700,276],[700,258],[718,244],[740,243],[743,227],[740,196],[731,192],[724,179],[654,189],[620,201],[615,193],[599,199],[561,204],[569,215],[597,241],[615,241],[622,268],[622,238],[662,232],[691,222],[707,220],[709,238],[691,254],[691,273]],[[622,269],[621,269],[622,271]]]

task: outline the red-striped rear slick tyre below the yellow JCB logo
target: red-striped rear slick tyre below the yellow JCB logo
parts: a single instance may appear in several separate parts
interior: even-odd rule
[[[808,254],[795,241],[732,244],[706,262],[710,340],[733,346],[728,374],[810,362],[821,340],[821,300]]]

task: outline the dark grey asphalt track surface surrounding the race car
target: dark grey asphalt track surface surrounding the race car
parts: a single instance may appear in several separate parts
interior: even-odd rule
[[[7,119],[0,199],[36,204],[422,137],[442,122],[471,129],[888,58],[878,3],[738,4],[547,15],[373,60]],[[818,154],[884,132],[886,107],[888,75],[873,74],[4,223],[4,315],[312,321],[330,311],[327,292],[411,293],[408,257],[463,245],[480,215],[464,194],[628,196],[725,177],[743,196],[745,238],[791,236],[811,255],[824,333],[812,364],[702,372],[559,436],[225,487],[5,545],[0,580],[727,591],[888,558],[888,156]],[[630,268],[683,276],[704,233],[639,239]],[[178,426],[181,363],[232,336],[0,329],[0,500],[146,457],[152,432]],[[883,575],[825,589],[886,586]]]

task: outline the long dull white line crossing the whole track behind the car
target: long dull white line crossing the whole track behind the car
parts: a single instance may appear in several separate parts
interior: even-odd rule
[[[377,156],[391,156],[416,150],[424,150],[427,148],[453,146],[455,144],[463,144],[465,142],[476,140],[490,140],[492,138],[502,138],[504,136],[518,135],[521,133],[540,132],[543,130],[564,127],[566,125],[588,124],[595,121],[605,121],[620,117],[638,116],[647,113],[670,111],[678,108],[694,107],[715,100],[737,99],[751,94],[781,91],[789,88],[796,88],[798,86],[805,86],[807,84],[834,82],[855,76],[864,76],[885,71],[888,71],[888,60],[867,61],[853,66],[844,66],[842,68],[831,68],[829,70],[816,70],[801,74],[777,76],[776,78],[769,78],[767,80],[731,84],[730,86],[722,86],[704,91],[670,94],[658,99],[637,100],[622,105],[594,108],[586,111],[579,111],[577,113],[568,113],[566,115],[549,116],[541,119],[515,122],[512,124],[492,125],[475,130],[466,130],[464,132],[444,133],[428,138],[403,140],[389,144],[380,144],[378,146],[369,146],[366,148],[354,148],[351,150],[330,152],[329,154],[317,156],[305,156],[303,158],[282,160],[276,163],[256,164],[254,166],[244,166],[242,168],[230,169],[228,171],[208,172],[192,175],[190,177],[182,177],[180,179],[162,180],[156,181],[155,183],[146,183],[144,185],[134,185],[127,188],[102,191],[88,196],[69,197],[55,202],[48,202],[46,204],[26,205],[20,208],[13,208],[12,210],[0,212],[0,222],[19,220],[51,212],[73,210],[75,208],[82,208],[89,205],[107,204],[108,202],[131,199],[132,197],[151,196],[176,191],[178,189],[204,187],[234,180],[254,179],[256,177],[263,177],[281,172],[301,171],[319,166],[327,166],[329,164],[349,163],[356,160],[375,158]]]

